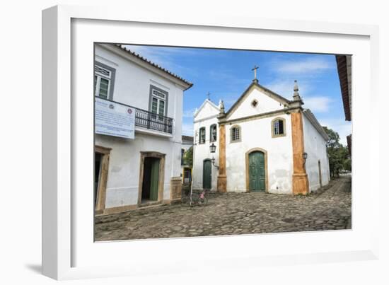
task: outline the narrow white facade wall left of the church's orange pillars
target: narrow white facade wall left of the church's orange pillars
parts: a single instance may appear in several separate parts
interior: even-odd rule
[[[199,109],[196,116],[194,117],[194,152],[193,152],[193,168],[192,168],[192,180],[193,189],[202,190],[202,171],[204,159],[215,158],[215,164],[219,165],[219,125],[217,124],[217,115],[219,115],[219,109],[212,106],[210,103],[205,101],[202,108]],[[212,124],[216,124],[217,137],[214,144],[216,146],[216,152],[211,153],[209,146],[212,144],[209,142],[209,127]],[[205,127],[205,144],[199,144],[199,129]],[[211,168],[211,191],[216,191],[217,186],[217,168],[212,165]]]

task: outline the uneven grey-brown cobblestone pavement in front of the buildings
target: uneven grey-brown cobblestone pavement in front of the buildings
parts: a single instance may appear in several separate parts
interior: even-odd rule
[[[97,216],[95,240],[322,231],[351,228],[351,178],[307,196],[209,194],[205,206],[185,204]]]

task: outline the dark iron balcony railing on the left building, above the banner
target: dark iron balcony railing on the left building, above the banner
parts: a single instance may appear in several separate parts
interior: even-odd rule
[[[108,100],[108,99],[104,99],[104,98],[100,98],[100,99]],[[137,107],[126,105],[123,103],[119,103],[119,102],[116,102],[113,100],[108,100],[108,101],[134,108],[135,109],[135,127],[141,127],[141,128],[145,128],[145,129],[153,129],[155,131],[165,132],[168,134],[173,133],[173,119],[170,117],[158,115],[156,113],[149,112],[149,111],[146,111],[143,109],[139,109]]]

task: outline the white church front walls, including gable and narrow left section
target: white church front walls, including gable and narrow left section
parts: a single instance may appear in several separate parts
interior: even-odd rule
[[[256,99],[258,105],[252,107],[252,100]],[[281,110],[283,106],[277,100],[270,98],[257,88],[252,89],[239,107],[231,113],[228,119],[248,117],[264,112]],[[207,105],[199,109],[194,118],[194,132],[196,142],[198,142],[198,132],[200,127],[206,127],[206,144],[197,144],[194,148],[194,167],[193,167],[193,187],[202,189],[202,169],[203,161],[206,158],[216,159],[219,165],[219,132],[216,144],[216,153],[209,152],[209,127],[217,122],[217,118],[209,118],[217,112],[211,110]],[[198,118],[209,118],[199,120]],[[272,138],[272,120],[276,117],[285,119],[286,136]],[[241,129],[241,140],[239,142],[230,141],[230,129],[238,124]],[[219,125],[218,125],[219,129]],[[293,174],[293,149],[291,143],[291,118],[290,115],[274,115],[272,117],[263,117],[247,122],[238,122],[226,124],[226,175],[228,192],[246,192],[246,165],[245,154],[251,149],[264,149],[267,151],[267,185],[271,193],[292,193],[292,174]],[[212,190],[216,191],[217,168],[212,168]]]

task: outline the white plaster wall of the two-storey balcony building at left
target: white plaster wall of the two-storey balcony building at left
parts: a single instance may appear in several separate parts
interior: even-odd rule
[[[120,51],[122,54],[122,51]],[[123,54],[122,54],[123,55]],[[126,57],[95,46],[95,60],[115,69],[112,100],[149,110],[150,86],[168,92],[167,116],[173,118],[173,135],[136,127],[135,139],[95,135],[95,145],[111,148],[105,207],[137,204],[140,151],[166,154],[163,199],[170,199],[170,178],[181,173],[182,95],[184,87]],[[144,134],[149,132],[150,134]]]

